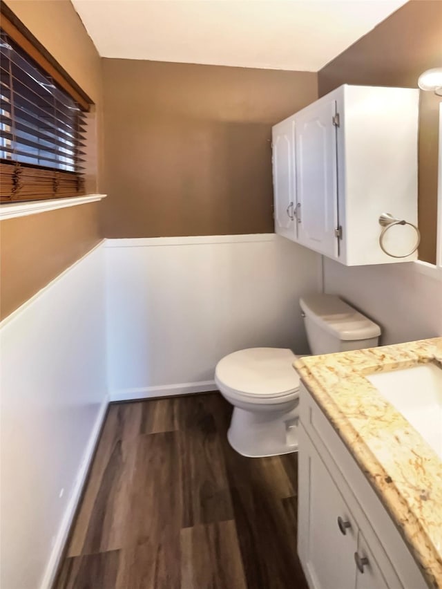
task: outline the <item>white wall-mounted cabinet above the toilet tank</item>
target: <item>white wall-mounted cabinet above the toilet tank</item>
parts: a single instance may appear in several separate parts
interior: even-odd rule
[[[340,86],[272,129],[276,233],[345,265],[412,261],[381,249],[383,213],[417,225],[419,92]],[[396,225],[384,245],[411,252]]]

